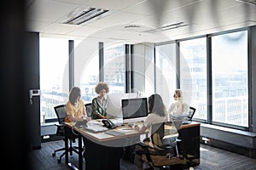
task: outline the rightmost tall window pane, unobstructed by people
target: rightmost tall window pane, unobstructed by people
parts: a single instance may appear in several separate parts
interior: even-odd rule
[[[247,31],[212,37],[212,121],[248,127]]]

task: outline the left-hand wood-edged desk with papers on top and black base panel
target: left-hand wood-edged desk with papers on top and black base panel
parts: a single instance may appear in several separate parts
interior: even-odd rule
[[[119,161],[123,152],[123,147],[140,142],[141,134],[136,130],[126,130],[127,128],[130,128],[127,125],[110,129],[123,132],[124,134],[120,136],[113,136],[106,133],[91,133],[89,131],[85,131],[84,128],[74,127],[73,122],[66,122],[65,125],[73,128],[73,130],[79,133],[79,147],[82,146],[81,138],[83,136],[85,137],[86,170],[119,170]],[[66,158],[66,164],[70,166],[68,158]],[[79,153],[79,169],[83,169],[82,153]]]

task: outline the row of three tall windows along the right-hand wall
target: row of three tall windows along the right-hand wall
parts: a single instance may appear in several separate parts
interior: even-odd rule
[[[185,101],[196,108],[194,119],[197,121],[224,127],[247,128],[247,39],[246,30],[178,40],[179,54],[175,53],[173,42],[156,45],[156,92],[166,95],[164,92],[169,91],[170,87],[181,88]],[[208,46],[207,41],[210,42]],[[173,65],[176,62],[175,55],[178,60]],[[171,59],[168,56],[173,57]],[[165,59],[174,61],[169,65]],[[168,78],[164,80],[163,77]],[[179,80],[177,85],[172,84],[175,77]],[[170,85],[165,87],[165,83]],[[172,93],[168,95],[172,97]],[[212,96],[207,96],[208,94]]]

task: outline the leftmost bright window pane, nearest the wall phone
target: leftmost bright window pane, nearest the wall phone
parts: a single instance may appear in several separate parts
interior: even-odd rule
[[[41,122],[54,120],[54,106],[67,102],[67,51],[67,40],[40,37]]]

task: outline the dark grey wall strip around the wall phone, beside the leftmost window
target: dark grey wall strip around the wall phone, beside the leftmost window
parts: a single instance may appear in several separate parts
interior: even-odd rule
[[[25,106],[26,106],[26,126],[28,131],[28,148],[41,148],[40,129],[40,96],[32,97],[29,103],[29,90],[40,89],[39,85],[39,33],[26,32],[25,56],[23,65],[25,68]]]

